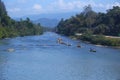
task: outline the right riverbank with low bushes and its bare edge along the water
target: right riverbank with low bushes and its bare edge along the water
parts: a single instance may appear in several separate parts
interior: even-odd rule
[[[82,40],[87,43],[99,45],[99,46],[109,46],[114,48],[120,48],[120,38],[106,37],[103,35],[90,35],[83,34],[80,36],[72,36],[72,39]]]

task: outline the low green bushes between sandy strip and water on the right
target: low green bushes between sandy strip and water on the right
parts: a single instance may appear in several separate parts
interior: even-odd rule
[[[89,41],[93,44],[107,45],[107,46],[120,46],[120,39],[118,38],[108,38],[103,35],[90,35],[84,34],[79,39],[84,41]]]

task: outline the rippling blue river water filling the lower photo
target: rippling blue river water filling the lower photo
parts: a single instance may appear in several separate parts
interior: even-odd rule
[[[58,44],[59,37],[72,46]],[[82,48],[76,47],[78,43]],[[52,32],[0,40],[0,80],[120,80],[120,49]]]

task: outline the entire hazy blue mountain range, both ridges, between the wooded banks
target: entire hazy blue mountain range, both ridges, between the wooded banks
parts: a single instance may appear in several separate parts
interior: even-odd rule
[[[36,14],[36,15],[23,16],[22,19],[26,19],[26,17],[29,17],[36,24],[40,23],[43,27],[53,28],[57,26],[57,24],[62,18],[67,19],[76,14],[77,12]],[[19,20],[20,18],[14,18],[14,19]]]

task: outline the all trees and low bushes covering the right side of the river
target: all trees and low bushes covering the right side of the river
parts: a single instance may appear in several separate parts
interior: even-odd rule
[[[120,37],[120,7],[114,6],[106,13],[96,13],[88,5],[80,14],[70,19],[61,19],[56,31],[66,36],[80,33],[82,35],[76,38],[94,44],[120,46],[120,38],[105,37],[106,35]]]

